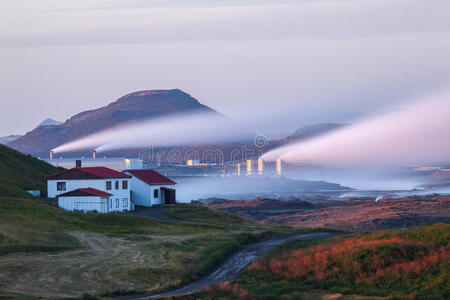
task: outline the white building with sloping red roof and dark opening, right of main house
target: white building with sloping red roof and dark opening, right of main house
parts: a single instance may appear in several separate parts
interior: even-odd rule
[[[175,204],[175,181],[153,170],[125,170],[131,176],[133,202],[136,205]]]

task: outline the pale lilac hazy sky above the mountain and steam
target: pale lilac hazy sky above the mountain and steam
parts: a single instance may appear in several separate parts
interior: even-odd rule
[[[450,86],[448,0],[0,0],[0,136],[179,88],[260,133]]]

